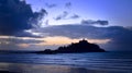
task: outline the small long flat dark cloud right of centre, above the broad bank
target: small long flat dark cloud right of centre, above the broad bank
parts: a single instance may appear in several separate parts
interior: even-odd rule
[[[108,25],[109,22],[108,22],[108,21],[101,21],[101,20],[98,20],[98,21],[94,21],[94,20],[82,20],[82,21],[81,21],[81,24],[100,24],[100,25]]]

